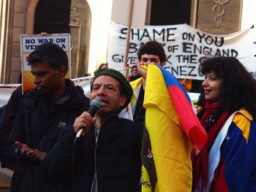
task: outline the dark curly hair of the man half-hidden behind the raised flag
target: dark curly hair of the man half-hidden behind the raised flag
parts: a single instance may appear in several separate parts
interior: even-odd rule
[[[160,62],[165,63],[165,50],[162,48],[162,45],[157,41],[146,42],[146,44],[140,47],[137,53],[139,61],[141,59],[141,55],[143,54],[158,55]]]

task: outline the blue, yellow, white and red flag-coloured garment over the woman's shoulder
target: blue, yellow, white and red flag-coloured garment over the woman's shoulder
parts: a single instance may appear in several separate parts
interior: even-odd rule
[[[256,191],[256,123],[245,109],[234,112],[211,146],[207,191]]]

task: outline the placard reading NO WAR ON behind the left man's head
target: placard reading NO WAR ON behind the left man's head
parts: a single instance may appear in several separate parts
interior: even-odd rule
[[[29,54],[32,53],[38,45],[43,43],[55,43],[59,45],[66,53],[69,59],[69,71],[65,78],[71,77],[71,48],[69,34],[34,34],[20,35],[20,55],[21,55],[21,71],[23,91],[29,91],[34,88],[34,77],[31,74],[31,66],[28,63]]]

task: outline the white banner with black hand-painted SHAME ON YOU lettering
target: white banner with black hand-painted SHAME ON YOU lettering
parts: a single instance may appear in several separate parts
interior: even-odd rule
[[[113,23],[108,44],[108,66],[124,66],[127,26]],[[145,42],[156,40],[165,50],[165,69],[178,78],[203,80],[199,64],[214,56],[236,57],[256,77],[256,47],[253,28],[234,34],[217,36],[206,34],[187,24],[173,26],[147,26],[143,30],[132,28],[128,64],[135,64],[137,52]]]

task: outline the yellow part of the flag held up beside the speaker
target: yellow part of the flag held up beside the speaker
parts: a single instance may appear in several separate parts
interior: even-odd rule
[[[155,192],[192,191],[192,144],[181,128],[161,70],[148,65],[143,107],[157,171]]]

